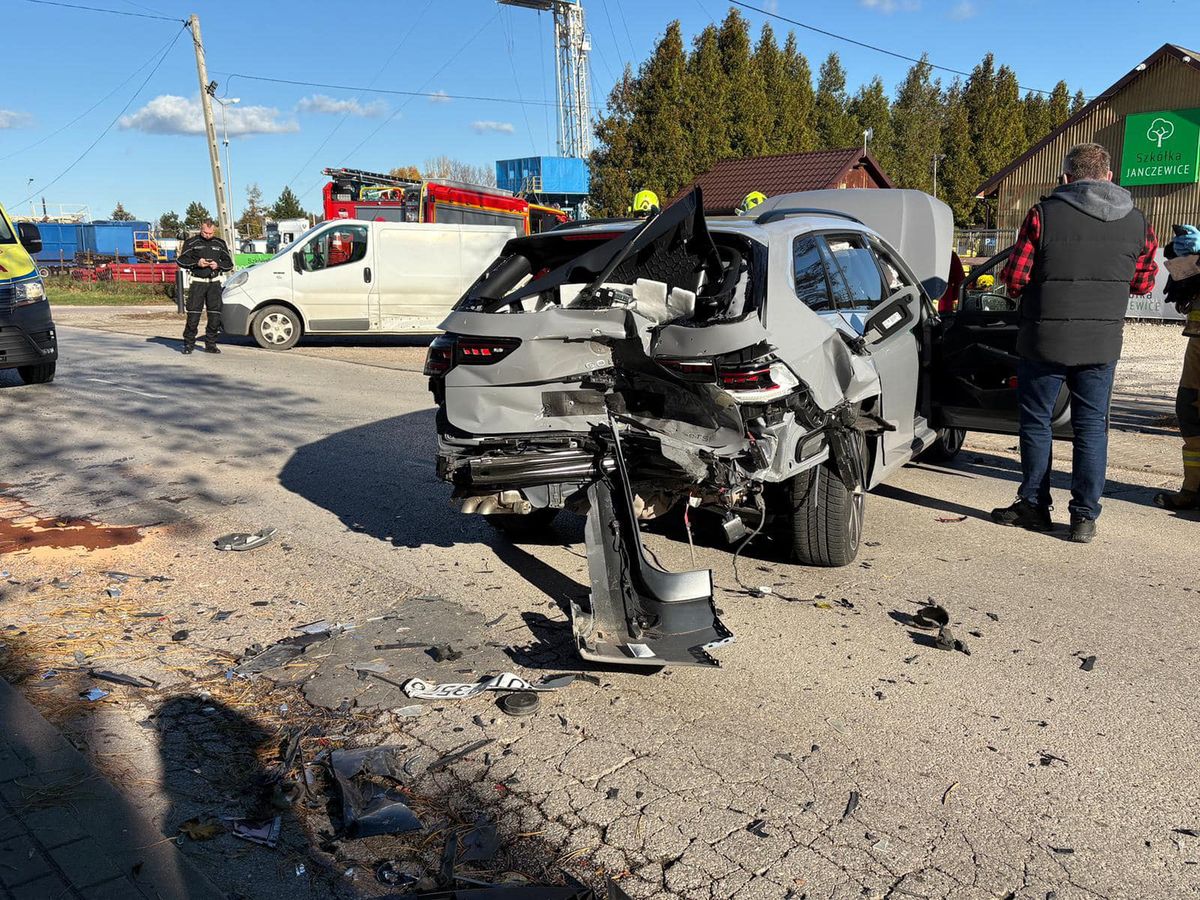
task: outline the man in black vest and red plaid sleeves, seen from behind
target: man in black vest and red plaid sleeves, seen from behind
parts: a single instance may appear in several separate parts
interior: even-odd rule
[[[1158,241],[1123,187],[1109,151],[1073,148],[1066,184],[1030,210],[1000,277],[1020,296],[1016,392],[1021,487],[1016,503],[992,510],[1006,526],[1049,532],[1050,420],[1062,385],[1070,391],[1074,452],[1070,540],[1096,536],[1109,454],[1109,401],[1121,356],[1129,294],[1154,287]]]

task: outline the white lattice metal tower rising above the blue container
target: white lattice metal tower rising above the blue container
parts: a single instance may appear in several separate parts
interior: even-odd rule
[[[497,0],[503,6],[554,14],[554,68],[558,71],[558,154],[581,160],[592,155],[592,106],[588,101],[588,53],[583,0]]]

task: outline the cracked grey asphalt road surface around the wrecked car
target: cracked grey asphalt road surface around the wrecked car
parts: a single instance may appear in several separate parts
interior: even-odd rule
[[[148,602],[169,600],[176,619],[241,613],[203,632],[229,649],[272,641],[298,617],[349,622],[434,593],[488,620],[504,613],[502,640],[522,648],[512,671],[580,668],[562,605],[587,590],[581,522],[563,516],[517,546],[452,510],[415,366],[247,346],[185,358],[172,340],[70,326],[60,338],[53,385],[0,372],[0,500],[151,527],[130,547],[0,557],[18,580],[157,566],[176,582]],[[636,898],[1195,896],[1200,838],[1172,829],[1200,829],[1198,522],[1151,503],[1175,484],[1171,442],[1114,436],[1120,467],[1090,546],[1067,542],[1064,527],[991,524],[988,510],[1015,488],[1007,438],[880,488],[847,569],[791,565],[764,544],[739,563],[745,583],[770,588],[755,596],[728,550],[702,540],[697,563],[737,635],[721,668],[604,672],[600,688],[557,692],[527,722],[473,725],[488,704],[460,701],[380,720],[379,739],[449,750],[480,730],[494,737],[509,752],[460,774],[520,774],[502,832],[578,851]],[[265,524],[281,540],[256,553],[209,545]],[[648,545],[667,568],[691,568],[676,532]],[[906,626],[930,596],[970,655]],[[6,612],[36,601],[23,598],[13,589]],[[174,684],[185,677],[176,667]],[[137,716],[108,716],[100,732],[137,754]],[[161,790],[139,802],[168,833],[198,808]],[[226,887],[247,896],[295,895],[290,872],[230,871]]]

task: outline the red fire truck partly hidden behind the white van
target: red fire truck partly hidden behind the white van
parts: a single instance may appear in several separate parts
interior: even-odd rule
[[[361,169],[325,169],[325,218],[373,222],[510,224],[534,234],[565,222],[552,206],[539,206],[497,187],[428,179],[412,181]]]

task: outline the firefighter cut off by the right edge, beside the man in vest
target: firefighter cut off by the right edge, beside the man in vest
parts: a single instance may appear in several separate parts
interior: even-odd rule
[[[1183,486],[1176,493],[1156,494],[1154,503],[1169,510],[1196,510],[1200,509],[1200,228],[1175,226],[1175,240],[1164,256],[1171,274],[1166,299],[1188,317],[1183,329],[1188,347],[1175,395],[1175,413],[1183,437]]]

